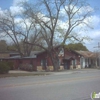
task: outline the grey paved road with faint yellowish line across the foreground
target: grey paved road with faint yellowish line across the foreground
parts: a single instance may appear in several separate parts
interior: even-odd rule
[[[92,92],[100,92],[100,70],[0,78],[0,100],[91,100]]]

